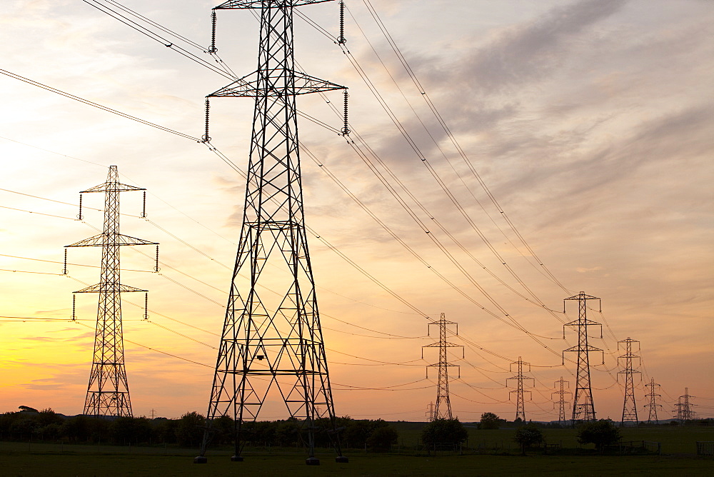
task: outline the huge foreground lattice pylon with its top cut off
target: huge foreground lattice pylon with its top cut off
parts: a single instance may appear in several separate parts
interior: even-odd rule
[[[296,71],[293,56],[293,8],[322,1],[229,0],[213,9],[258,10],[260,39],[258,69],[207,97],[254,98],[255,109],[241,238],[196,463],[206,462],[213,420],[221,416],[233,418],[231,460],[243,461],[245,423],[256,421],[271,388],[301,423],[306,463],[319,464],[322,418],[335,431],[303,216],[296,96],[345,88]],[[331,438],[337,460],[346,462],[336,433]]]

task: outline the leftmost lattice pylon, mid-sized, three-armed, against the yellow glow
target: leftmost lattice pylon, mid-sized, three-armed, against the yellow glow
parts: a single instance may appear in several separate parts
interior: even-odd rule
[[[124,191],[145,191],[140,187],[119,183],[116,166],[109,166],[106,182],[79,194],[79,219],[82,219],[81,194],[104,192],[104,229],[101,234],[84,239],[65,247],[101,247],[101,276],[96,285],[87,286],[74,293],[99,293],[96,312],[96,333],[94,336],[94,358],[92,359],[89,386],[87,386],[84,414],[86,416],[132,416],[129,383],[124,367],[124,336],[121,327],[121,293],[146,290],[123,285],[119,280],[119,248],[127,245],[156,245],[156,267],[159,270],[159,244],[136,239],[119,233],[119,193]],[[144,193],[146,194],[146,193]],[[146,195],[144,211],[146,216]],[[67,249],[64,253],[64,273],[67,271]],[[74,298],[72,296],[72,319]],[[146,306],[146,296],[144,296]],[[144,318],[146,318],[146,308]]]

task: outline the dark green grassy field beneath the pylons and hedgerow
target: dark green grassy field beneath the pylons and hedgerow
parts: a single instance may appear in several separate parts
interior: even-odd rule
[[[321,466],[306,466],[305,456],[290,451],[256,448],[246,461],[233,463],[228,449],[208,453],[208,463],[193,464],[194,449],[160,446],[81,446],[57,443],[0,442],[3,476],[711,476],[714,459],[694,456],[696,441],[714,441],[714,428],[623,429],[625,441],[658,441],[663,456],[598,456],[578,448],[572,429],[547,429],[549,443],[562,444],[558,453],[531,451],[518,455],[513,429],[469,429],[464,455],[439,453],[426,456],[414,450],[418,423],[393,423],[399,430],[398,448],[391,453],[348,452],[350,463],[334,462],[321,451]],[[510,451],[509,451],[510,448]],[[271,453],[268,453],[271,452]]]

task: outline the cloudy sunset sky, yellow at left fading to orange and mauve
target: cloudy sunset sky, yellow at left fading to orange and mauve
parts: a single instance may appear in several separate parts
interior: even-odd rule
[[[6,2],[1,69],[200,137],[204,96],[231,81],[92,3]],[[208,46],[214,4],[121,4]],[[585,291],[602,306],[588,310],[603,323],[603,338],[598,328],[590,338],[605,361],[591,354],[598,417],[622,414],[618,341],[628,337],[640,341],[640,420],[651,378],[661,385],[660,418],[685,388],[695,412],[714,416],[714,4],[371,0],[421,86],[366,4],[346,5],[349,55],[303,20],[295,25],[301,69],[349,87],[351,140],[379,158],[368,166],[345,138],[300,120],[336,413],[423,421],[436,399],[436,370],[427,379],[425,366],[438,356],[422,346],[438,340],[428,322],[446,313],[458,323],[449,341],[465,346],[463,357],[461,348],[449,355],[460,366],[449,369],[454,416],[513,419],[506,379],[521,357],[535,378],[526,417],[557,419],[554,382],[575,387],[561,353],[577,342],[572,329],[563,333],[577,307],[568,302],[563,314],[563,298]],[[336,2],[300,11],[337,33]],[[238,76],[256,68],[257,35],[250,12],[219,12],[218,54]],[[341,101],[339,92],[300,96],[298,108],[340,129],[330,106]],[[69,318],[72,292],[99,279],[99,250],[70,249],[69,276],[61,261],[65,245],[101,228],[99,194],[84,196],[76,220],[79,191],[116,165],[121,181],[148,190],[148,220],[139,218],[141,193],[121,195],[122,232],[161,243],[160,273],[151,273],[151,248],[122,250],[122,283],[150,291],[149,321],[143,297],[122,298],[134,414],[205,412],[240,236],[241,176],[204,144],[5,74],[0,105],[0,411],[82,411],[96,296],[78,295],[79,321]],[[250,99],[211,102],[212,144],[239,169],[252,109]],[[261,418],[284,417],[271,396]]]

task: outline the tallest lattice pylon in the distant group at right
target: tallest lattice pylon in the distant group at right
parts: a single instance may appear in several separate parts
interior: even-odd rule
[[[565,338],[565,326],[578,328],[578,345],[572,346],[563,351],[575,351],[578,353],[578,372],[575,374],[575,396],[573,397],[573,426],[579,421],[595,421],[595,405],[593,404],[593,388],[590,386],[590,351],[600,351],[588,344],[588,326],[600,326],[600,338],[603,337],[603,328],[600,323],[588,320],[588,300],[600,300],[595,296],[585,295],[581,291],[578,295],[565,298],[563,301],[563,312],[565,312],[565,301],[578,300],[578,319],[563,325],[563,338]],[[605,355],[603,353],[603,363]],[[563,355],[565,363],[565,355]]]

